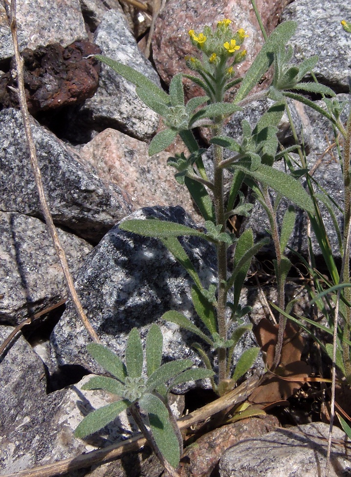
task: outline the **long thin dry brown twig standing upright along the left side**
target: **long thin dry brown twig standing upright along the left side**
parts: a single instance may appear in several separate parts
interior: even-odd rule
[[[17,72],[17,90],[16,91],[19,98],[19,103],[20,103],[20,108],[21,108],[21,113],[23,118],[23,125],[25,130],[25,136],[27,138],[27,143],[29,148],[30,161],[32,164],[35,183],[38,189],[42,212],[44,215],[46,226],[53,240],[56,253],[59,257],[60,264],[66,278],[67,287],[74,303],[74,307],[78,315],[82,319],[84,326],[86,327],[92,340],[99,343],[100,340],[97,334],[95,333],[95,330],[92,328],[91,324],[89,323],[88,318],[86,314],[84,313],[82,304],[77,295],[76,289],[74,288],[73,279],[68,269],[66,254],[64,249],[61,246],[60,239],[57,234],[57,230],[54,226],[51,213],[47,205],[47,201],[44,194],[42,174],[40,172],[40,168],[38,164],[37,153],[36,153],[35,144],[34,144],[32,131],[31,131],[31,121],[29,118],[27,103],[25,100],[24,80],[23,80],[23,60],[20,55],[19,46],[18,46],[18,38],[17,38],[16,0],[11,0],[11,1],[4,0],[3,3],[6,10],[6,15],[7,15],[8,23],[10,26],[13,46],[15,50],[16,72]]]

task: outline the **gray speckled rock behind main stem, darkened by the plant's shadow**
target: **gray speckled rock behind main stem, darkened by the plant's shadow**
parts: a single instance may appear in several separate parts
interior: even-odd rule
[[[128,218],[146,217],[195,227],[181,207],[146,207]],[[213,246],[197,237],[182,238],[182,243],[204,286],[208,287],[216,273]],[[194,335],[159,320],[168,310],[193,317],[191,286],[191,278],[158,240],[124,232],[118,226],[87,257],[76,280],[92,326],[103,344],[119,356],[124,356],[127,336],[133,327],[139,328],[144,338],[156,321],[163,331],[166,361],[190,357],[199,363],[190,348]],[[58,364],[81,364],[91,372],[102,372],[86,351],[88,341],[86,330],[68,305],[51,335]]]

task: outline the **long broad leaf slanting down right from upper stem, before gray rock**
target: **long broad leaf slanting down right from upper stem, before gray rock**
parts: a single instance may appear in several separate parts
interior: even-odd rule
[[[268,187],[271,187],[294,204],[313,214],[313,202],[306,190],[300,182],[285,174],[285,172],[279,171],[265,164],[260,164],[255,171],[251,171],[246,167],[241,167],[238,163],[235,164],[235,167],[238,167],[256,181],[268,185]]]

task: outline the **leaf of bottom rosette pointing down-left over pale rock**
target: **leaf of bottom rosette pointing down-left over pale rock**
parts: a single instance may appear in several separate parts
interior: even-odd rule
[[[103,408],[90,412],[90,414],[88,414],[88,416],[86,416],[78,425],[74,435],[83,438],[94,432],[100,431],[100,429],[113,421],[118,414],[131,406],[131,404],[132,403],[127,400],[117,401],[116,403],[108,404]]]

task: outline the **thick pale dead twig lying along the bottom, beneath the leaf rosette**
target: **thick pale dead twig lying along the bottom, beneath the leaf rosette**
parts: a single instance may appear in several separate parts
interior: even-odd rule
[[[177,421],[179,429],[187,429],[190,426],[205,421],[223,409],[231,408],[236,404],[242,403],[257,387],[259,381],[260,377],[258,375],[253,375],[236,389],[228,392],[228,394],[225,394],[203,408],[197,409],[191,414],[182,417]],[[63,475],[92,465],[104,464],[111,460],[116,460],[126,453],[138,452],[145,445],[147,445],[146,439],[137,435],[124,442],[112,444],[104,449],[98,449],[96,451],[88,452],[87,454],[80,454],[76,457],[53,462],[52,464],[45,464],[34,467],[33,469],[19,471],[15,474],[2,475],[0,477],[53,477],[56,475]]]

